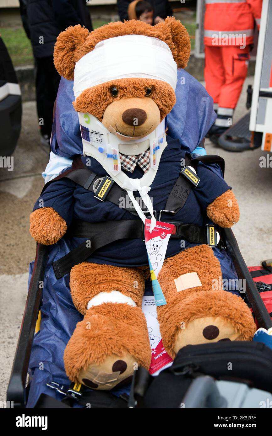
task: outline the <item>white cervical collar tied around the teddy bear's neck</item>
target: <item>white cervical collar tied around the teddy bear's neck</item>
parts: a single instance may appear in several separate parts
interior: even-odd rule
[[[79,112],[79,124],[83,143],[83,155],[91,156],[102,165],[107,174],[124,190],[127,191],[129,198],[134,205],[139,217],[145,222],[145,214],[141,210],[138,202],[134,198],[133,191],[139,191],[151,215],[150,231],[155,227],[155,217],[153,206],[148,196],[150,185],[152,184],[158,170],[162,152],[167,146],[165,138],[165,119],[156,127],[153,132],[144,138],[133,138],[120,135],[113,127],[107,129],[93,115]],[[149,170],[140,178],[132,179],[121,170],[119,153],[134,156],[143,153],[149,147],[150,167]]]

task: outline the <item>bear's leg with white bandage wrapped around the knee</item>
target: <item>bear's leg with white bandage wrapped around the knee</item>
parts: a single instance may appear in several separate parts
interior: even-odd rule
[[[70,288],[76,308],[85,314],[64,352],[70,380],[109,390],[129,383],[138,365],[148,369],[142,272],[84,262],[72,268]]]

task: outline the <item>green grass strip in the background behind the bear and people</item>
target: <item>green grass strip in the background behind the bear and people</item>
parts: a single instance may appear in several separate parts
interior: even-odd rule
[[[97,27],[101,27],[104,24],[107,24],[107,21],[104,20],[93,20],[93,27],[97,29]],[[186,27],[190,36],[195,35],[196,24],[194,23],[183,23]],[[11,27],[2,27],[0,31],[0,35],[3,38],[4,43],[6,44],[7,50],[10,54],[10,58],[13,62],[14,67],[20,65],[33,65],[33,53],[31,42],[28,39],[27,35],[23,27],[19,28],[11,28]],[[194,39],[191,39],[191,48],[192,50],[195,47]]]

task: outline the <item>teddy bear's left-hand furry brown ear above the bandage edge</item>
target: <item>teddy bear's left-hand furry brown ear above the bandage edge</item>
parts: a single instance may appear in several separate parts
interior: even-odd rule
[[[88,29],[77,24],[68,27],[57,37],[54,49],[54,64],[56,70],[65,79],[72,80],[74,78],[76,62],[88,52],[86,50],[85,53],[83,48],[88,35]]]

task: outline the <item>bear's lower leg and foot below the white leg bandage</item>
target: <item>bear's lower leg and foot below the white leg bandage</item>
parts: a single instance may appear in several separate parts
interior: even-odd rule
[[[128,384],[138,365],[148,369],[150,361],[145,315],[139,307],[120,303],[87,310],[64,352],[70,380],[97,390]]]

